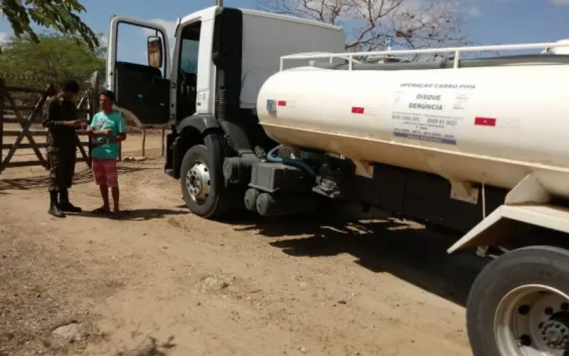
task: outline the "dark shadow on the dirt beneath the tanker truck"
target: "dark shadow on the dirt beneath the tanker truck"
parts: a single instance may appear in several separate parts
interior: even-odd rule
[[[348,253],[358,265],[390,273],[457,305],[466,306],[470,286],[488,262],[474,251],[447,254],[459,236],[439,234],[393,219],[357,221],[338,216],[230,221],[237,231],[280,238],[270,242],[289,256],[323,257]],[[262,221],[261,221],[262,220]]]

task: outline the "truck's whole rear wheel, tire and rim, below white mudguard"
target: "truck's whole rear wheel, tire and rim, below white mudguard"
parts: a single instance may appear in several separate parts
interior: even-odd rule
[[[569,251],[520,248],[477,277],[467,305],[474,356],[569,355]]]

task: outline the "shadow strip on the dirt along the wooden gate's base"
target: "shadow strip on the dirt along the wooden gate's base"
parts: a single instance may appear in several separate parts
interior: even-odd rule
[[[119,174],[127,174],[132,172],[139,172],[144,169],[151,169],[151,167],[144,166],[120,166],[118,168]],[[83,184],[87,182],[92,182],[92,172],[89,169],[82,169],[75,172],[73,177],[73,184]],[[49,186],[49,172],[46,171],[45,174],[33,176],[33,177],[23,177],[23,178],[8,178],[0,179],[0,194],[6,194],[10,190],[28,190],[36,188],[47,188]]]

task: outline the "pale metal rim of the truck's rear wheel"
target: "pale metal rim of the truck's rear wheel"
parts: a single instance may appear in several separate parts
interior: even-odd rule
[[[503,356],[569,356],[569,298],[548,286],[532,284],[502,298],[494,336]]]

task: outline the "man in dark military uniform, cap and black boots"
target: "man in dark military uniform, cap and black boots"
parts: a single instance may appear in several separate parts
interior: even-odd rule
[[[78,93],[79,84],[75,80],[69,80],[61,93],[48,100],[43,115],[42,125],[48,128],[49,214],[57,217],[65,217],[65,211],[82,211],[70,203],[68,190],[73,182],[77,159],[75,130],[81,125],[75,108]]]

